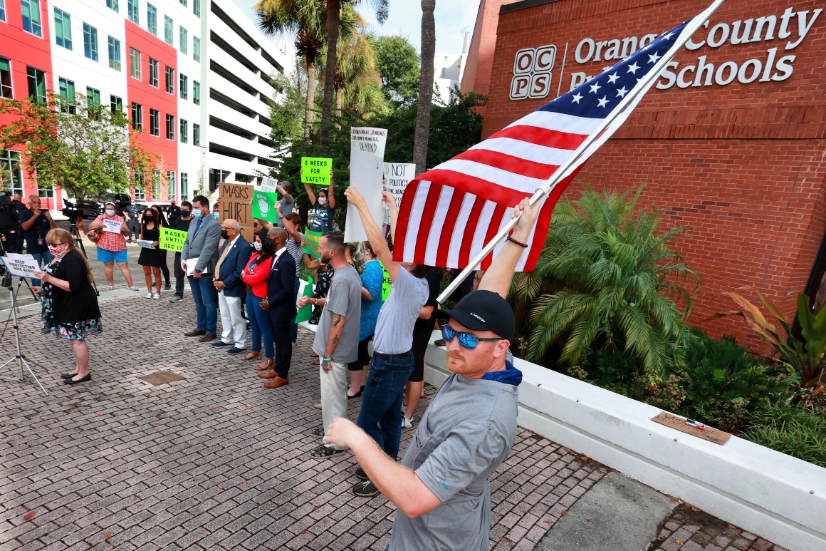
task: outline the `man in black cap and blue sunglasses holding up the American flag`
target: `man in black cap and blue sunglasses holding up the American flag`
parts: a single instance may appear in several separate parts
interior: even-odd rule
[[[434,396],[401,464],[349,419],[334,419],[327,430],[327,441],[351,448],[370,480],[398,507],[392,551],[488,547],[490,476],[513,445],[522,379],[505,359],[516,323],[502,297],[538,212],[524,199],[515,208],[519,220],[510,239],[479,290],[435,314],[442,319],[453,374]]]

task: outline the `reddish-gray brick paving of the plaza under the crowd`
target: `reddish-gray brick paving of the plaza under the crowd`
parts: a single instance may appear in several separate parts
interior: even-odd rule
[[[69,343],[41,334],[38,315],[20,320],[26,357],[50,394],[31,380],[0,381],[0,549],[384,549],[395,507],[351,493],[353,456],[306,455],[320,426],[312,334],[300,331],[290,384],[267,390],[252,362],[184,338],[192,300],[188,290],[178,304],[171,296],[102,293],[104,333],[89,339],[93,381],[77,386],[59,379],[73,363]],[[0,361],[13,355],[9,328]],[[181,378],[145,381],[161,371]],[[434,393],[426,390],[417,418]],[[351,418],[360,405],[350,400]],[[412,433],[403,432],[402,450]],[[488,548],[624,549],[619,540],[547,547],[569,525],[582,533],[574,523],[587,532],[615,516],[610,499],[587,501],[608,472],[520,429],[491,480]],[[686,505],[661,516],[648,518],[648,549],[781,551]]]

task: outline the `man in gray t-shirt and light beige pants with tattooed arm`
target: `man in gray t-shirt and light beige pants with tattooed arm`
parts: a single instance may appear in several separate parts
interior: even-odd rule
[[[358,357],[358,326],[361,323],[361,278],[344,258],[344,236],[326,232],[319,242],[321,261],[333,266],[335,274],[325,299],[303,296],[299,306],[324,305],[313,341],[313,351],[320,357],[321,419],[324,429],[335,417],[347,416],[347,364]],[[323,302],[321,302],[323,301]],[[326,459],[344,452],[344,448],[326,442],[310,450],[313,459]]]

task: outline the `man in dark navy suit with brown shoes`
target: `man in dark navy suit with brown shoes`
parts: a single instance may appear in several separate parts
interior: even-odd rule
[[[267,239],[273,242],[273,269],[267,280],[267,308],[269,325],[273,329],[275,341],[275,365],[270,371],[259,373],[259,377],[270,379],[266,388],[278,388],[290,382],[287,375],[292,358],[290,340],[290,320],[296,317],[296,261],[287,253],[284,244],[287,232],[278,226],[269,228]],[[262,301],[263,304],[263,301]],[[263,308],[263,306],[262,306]]]

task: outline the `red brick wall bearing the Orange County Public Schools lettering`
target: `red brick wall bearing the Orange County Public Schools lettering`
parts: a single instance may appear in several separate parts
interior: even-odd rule
[[[573,59],[579,41],[660,34],[705,8],[706,0],[559,0],[507,12],[499,18],[496,55],[492,64],[490,102],[483,136],[501,129],[556,95],[563,51],[568,55],[562,93],[570,74],[596,74],[611,62],[580,65]],[[813,11],[823,2],[754,0],[727,2],[701,28],[709,29],[751,17],[780,17],[787,7]],[[826,232],[826,12],[814,20],[805,40],[785,50],[793,36],[748,44],[681,50],[680,66],[696,65],[700,55],[716,66],[732,60],[765,61],[795,55],[794,72],[781,82],[752,82],[652,89],[619,132],[597,152],[580,173],[596,189],[628,189],[648,185],[642,204],[662,208],[665,228],[688,225],[676,250],[702,277],[691,323],[714,336],[734,334],[741,342],[766,351],[756,335],[747,334],[742,320],[706,321],[733,309],[724,292],[743,285],[757,287],[792,314],[820,242]],[[776,33],[775,33],[776,34]],[[516,50],[555,44],[553,92],[540,100],[512,101],[509,85]],[[691,76],[691,75],[690,75]],[[566,192],[576,198],[577,184]],[[749,298],[756,297],[746,293]]]

